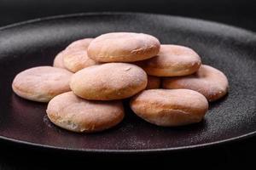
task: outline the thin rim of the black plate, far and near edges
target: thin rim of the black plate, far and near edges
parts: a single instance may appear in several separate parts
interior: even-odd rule
[[[150,14],[150,13],[131,13],[131,12],[96,12],[96,13],[79,13],[79,14],[61,14],[61,15],[55,15],[55,16],[49,16],[44,18],[38,18],[33,20],[26,20],[22,22],[18,22],[15,24],[10,24],[8,26],[2,26],[0,27],[0,31],[8,30],[9,28],[17,27],[17,26],[24,26],[27,24],[32,23],[38,23],[40,21],[45,20],[55,20],[55,19],[62,19],[62,18],[72,18],[72,17],[78,17],[78,16],[84,16],[84,15],[162,15],[162,16],[172,16],[167,14]],[[189,17],[182,17],[182,16],[172,16],[177,19],[185,19],[185,20],[195,20],[195,21],[201,21],[201,22],[207,22],[212,24],[218,24],[219,26],[227,26],[232,29],[236,29],[236,31],[245,31],[249,34],[252,34],[253,36],[256,36],[253,31],[248,31],[246,29],[238,28],[236,26],[228,26],[222,23],[214,22],[214,21],[207,21],[207,20],[200,20],[200,19],[193,19]],[[66,151],[75,151],[75,152],[83,152],[83,153],[116,153],[116,154],[134,154],[134,153],[157,153],[157,152],[170,152],[170,151],[177,151],[177,150],[195,150],[195,149],[202,149],[207,148],[210,146],[216,146],[220,144],[227,144],[231,142],[237,142],[242,139],[248,139],[256,135],[256,130],[251,133],[246,133],[234,138],[230,139],[224,139],[224,140],[218,140],[215,142],[205,143],[205,144],[193,144],[189,146],[179,146],[179,147],[173,147],[173,148],[163,148],[163,149],[146,149],[146,150],[99,150],[99,149],[74,149],[74,148],[65,148],[65,147],[59,147],[59,146],[51,146],[48,144],[37,144],[32,142],[27,142],[19,139],[11,139],[8,137],[0,136],[0,140],[5,142],[10,142],[13,144],[21,144],[24,146],[32,146],[38,149],[45,149],[45,150],[66,150]]]

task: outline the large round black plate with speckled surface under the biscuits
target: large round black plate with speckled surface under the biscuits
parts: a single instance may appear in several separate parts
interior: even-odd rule
[[[230,81],[230,94],[212,103],[205,120],[186,127],[156,127],[125,102],[124,122],[103,133],[70,133],[45,115],[47,105],[20,99],[15,75],[51,65],[61,49],[83,37],[110,31],[152,34],[162,43],[194,48],[203,63]],[[256,132],[256,36],[217,23],[157,14],[73,14],[32,20],[0,30],[0,138],[20,144],[87,152],[149,152],[197,148],[244,139]]]

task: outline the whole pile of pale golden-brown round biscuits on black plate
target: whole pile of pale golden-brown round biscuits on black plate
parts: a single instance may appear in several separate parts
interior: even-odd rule
[[[208,102],[227,94],[229,83],[191,48],[160,44],[148,34],[111,32],[72,42],[53,66],[17,74],[12,88],[21,98],[49,102],[46,113],[56,126],[93,133],[124,119],[124,101],[158,126],[201,122]]]

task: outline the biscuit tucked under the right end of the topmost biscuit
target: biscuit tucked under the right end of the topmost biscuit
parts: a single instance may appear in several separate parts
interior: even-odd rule
[[[201,65],[201,58],[191,48],[178,45],[161,45],[156,57],[137,62],[148,75],[177,77],[190,75]]]

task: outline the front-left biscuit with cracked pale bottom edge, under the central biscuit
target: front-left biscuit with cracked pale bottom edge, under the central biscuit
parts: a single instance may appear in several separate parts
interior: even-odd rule
[[[73,92],[55,96],[49,101],[46,112],[55,125],[78,133],[108,129],[125,116],[121,101],[90,101]]]

